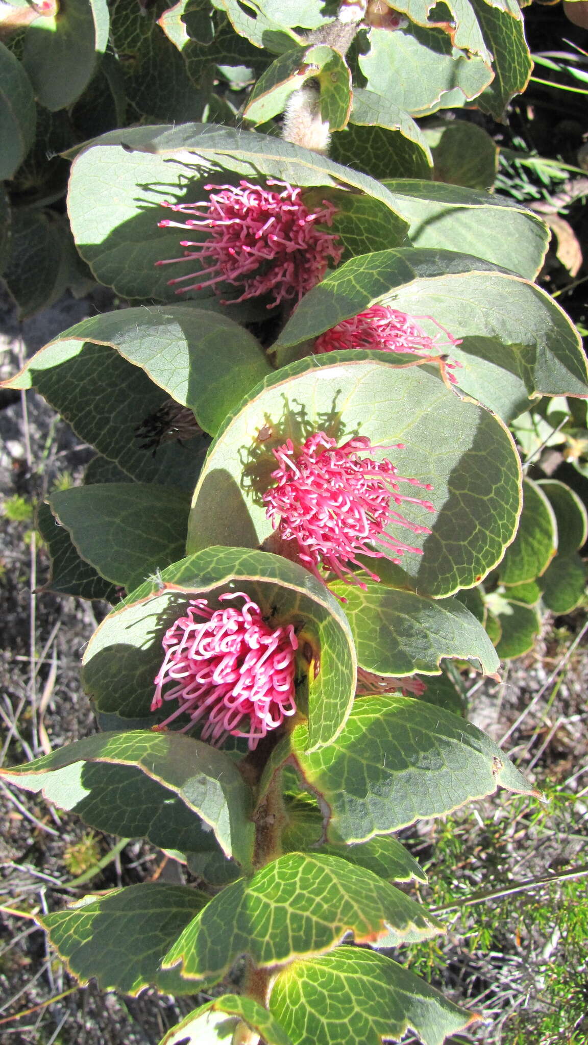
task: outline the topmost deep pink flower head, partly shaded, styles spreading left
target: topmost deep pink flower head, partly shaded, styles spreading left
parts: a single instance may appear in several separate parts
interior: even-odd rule
[[[187,282],[177,294],[204,286],[217,289],[219,284],[228,283],[241,295],[222,304],[271,295],[271,308],[281,301],[299,301],[322,279],[330,260],[334,264],[341,260],[343,247],[338,236],[317,228],[317,224],[332,224],[335,207],[323,201],[319,210],[311,212],[300,199],[299,188],[273,179],[268,179],[267,185],[281,191],[242,181],[236,188],[205,185],[210,192],[208,202],[163,204],[182,215],[194,216],[185,222],[164,219],[159,222],[160,227],[209,230],[204,242],[180,240],[182,247],[190,248],[183,257],[156,262],[201,262],[200,271],[169,280],[169,284]]]

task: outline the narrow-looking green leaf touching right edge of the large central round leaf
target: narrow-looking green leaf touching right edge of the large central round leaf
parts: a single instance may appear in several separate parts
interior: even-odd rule
[[[502,584],[522,584],[545,573],[558,550],[558,525],[549,501],[537,483],[523,480],[523,509],[517,536],[499,566]]]

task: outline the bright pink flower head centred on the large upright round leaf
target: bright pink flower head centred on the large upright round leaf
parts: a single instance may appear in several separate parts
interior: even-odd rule
[[[405,552],[422,554],[421,549],[392,536],[388,528],[395,525],[412,533],[431,531],[409,521],[390,506],[404,502],[432,512],[430,502],[400,493],[400,484],[425,490],[432,490],[432,486],[399,475],[395,465],[387,459],[376,461],[372,452],[382,448],[371,446],[365,436],[337,446],[335,439],[317,432],[306,440],[299,452],[290,439],[273,450],[279,467],[272,472],[275,486],[263,498],[268,517],[282,539],[297,541],[300,562],[316,577],[320,578],[320,566],[348,580],[353,574],[348,563],[366,568],[358,555],[384,557],[383,552],[374,549],[374,542],[387,549],[392,562],[400,562]],[[397,443],[387,448],[405,447]],[[377,574],[367,573],[380,580]],[[365,588],[365,584],[355,583]]]

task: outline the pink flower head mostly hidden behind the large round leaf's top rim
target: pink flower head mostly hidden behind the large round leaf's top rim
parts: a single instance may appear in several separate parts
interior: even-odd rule
[[[336,352],[346,348],[372,349],[379,352],[410,352],[414,355],[431,355],[444,345],[460,345],[449,330],[437,323],[432,316],[419,317],[430,320],[446,335],[447,341],[439,341],[439,334],[430,338],[416,323],[413,316],[400,312],[387,305],[371,305],[359,316],[342,320],[337,326],[321,333],[313,349],[315,355],[322,352]],[[448,368],[459,366],[457,363],[447,363]],[[455,381],[453,374],[449,379]]]

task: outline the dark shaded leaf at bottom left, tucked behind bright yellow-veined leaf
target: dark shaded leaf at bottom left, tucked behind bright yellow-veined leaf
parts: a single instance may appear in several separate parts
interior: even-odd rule
[[[132,997],[152,984],[191,994],[191,985],[162,971],[161,958],[206,901],[185,886],[130,885],[38,921],[81,985],[96,979],[101,991]]]

